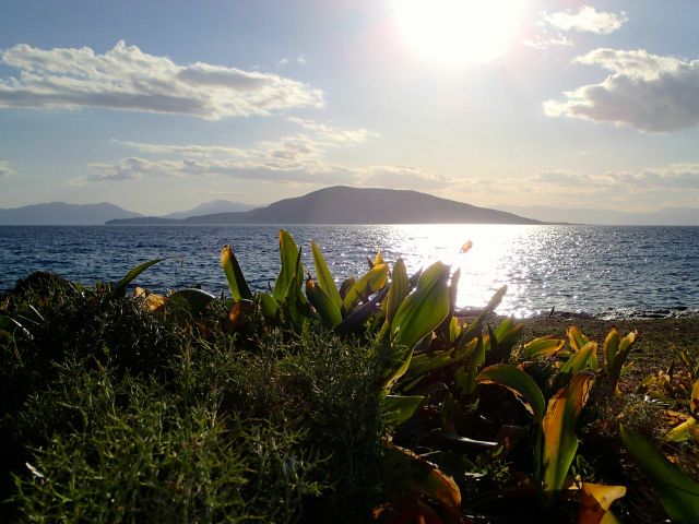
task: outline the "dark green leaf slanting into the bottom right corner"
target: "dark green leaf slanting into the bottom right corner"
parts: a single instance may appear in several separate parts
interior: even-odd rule
[[[699,522],[699,485],[639,433],[624,426],[620,430],[624,445],[657,490],[670,517],[686,524]]]

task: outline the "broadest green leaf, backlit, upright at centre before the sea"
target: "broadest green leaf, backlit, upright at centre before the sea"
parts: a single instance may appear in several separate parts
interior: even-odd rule
[[[393,345],[413,347],[449,314],[449,266],[435,262],[423,272],[414,293],[405,297],[391,322]]]

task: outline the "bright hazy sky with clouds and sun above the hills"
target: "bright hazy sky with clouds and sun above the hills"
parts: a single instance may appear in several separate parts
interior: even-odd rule
[[[0,207],[699,213],[696,0],[0,3]]]

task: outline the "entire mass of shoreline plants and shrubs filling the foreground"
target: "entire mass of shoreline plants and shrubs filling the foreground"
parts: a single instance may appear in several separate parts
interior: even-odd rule
[[[0,520],[699,521],[694,348],[632,384],[635,331],[524,341],[494,314],[505,289],[457,315],[448,265],[410,276],[379,252],[337,287],[311,251],[315,277],[282,230],[275,285],[253,294],[224,247],[221,299],[127,297],[157,261],[115,285],[17,283],[0,299]],[[644,424],[668,413],[663,434]]]

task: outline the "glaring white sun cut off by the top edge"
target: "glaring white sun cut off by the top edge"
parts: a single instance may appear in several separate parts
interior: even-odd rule
[[[526,0],[393,0],[406,43],[446,66],[490,62],[514,38]]]

